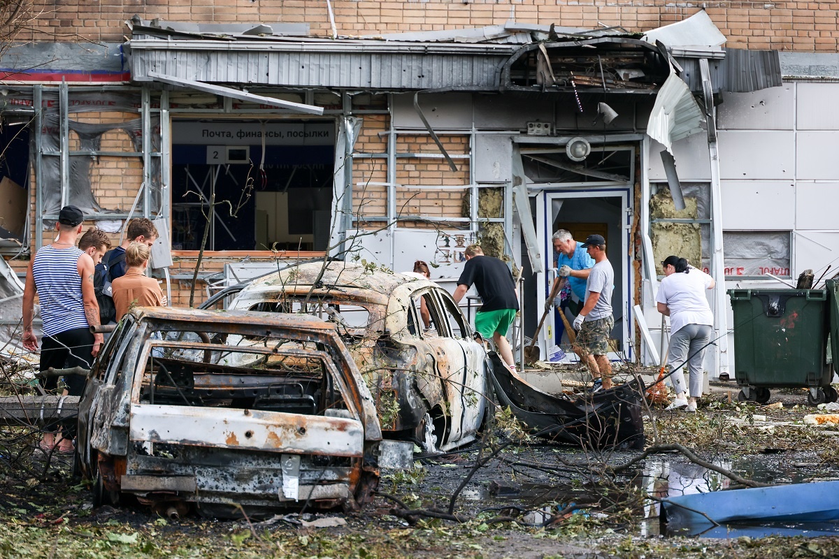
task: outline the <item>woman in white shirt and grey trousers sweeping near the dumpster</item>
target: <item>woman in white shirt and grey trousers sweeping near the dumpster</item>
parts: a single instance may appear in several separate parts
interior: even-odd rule
[[[706,289],[714,288],[711,276],[688,265],[679,256],[668,256],[664,266],[664,279],[659,284],[655,298],[659,313],[670,317],[670,349],[667,365],[670,370],[679,367],[671,379],[676,399],[668,410],[686,407],[696,411],[696,398],[702,393],[702,360],[711,341],[714,316],[705,296]],[[685,398],[685,375],[682,366],[687,362],[690,372],[690,401]]]

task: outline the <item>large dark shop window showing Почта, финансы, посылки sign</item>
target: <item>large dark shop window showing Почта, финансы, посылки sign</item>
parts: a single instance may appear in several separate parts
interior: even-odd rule
[[[264,137],[263,137],[264,136]],[[172,247],[324,251],[335,161],[331,121],[172,124]]]

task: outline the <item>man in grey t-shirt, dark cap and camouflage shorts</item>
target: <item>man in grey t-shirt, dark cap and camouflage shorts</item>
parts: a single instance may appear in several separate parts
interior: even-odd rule
[[[574,329],[579,330],[576,344],[586,354],[593,355],[586,359],[586,365],[594,377],[592,391],[600,388],[612,388],[612,365],[607,357],[609,337],[615,321],[612,318],[612,287],[615,283],[615,271],[606,257],[606,240],[600,235],[589,235],[582,247],[594,259],[594,267],[586,282],[586,302],[580,314],[574,320]],[[593,361],[593,362],[592,362]]]

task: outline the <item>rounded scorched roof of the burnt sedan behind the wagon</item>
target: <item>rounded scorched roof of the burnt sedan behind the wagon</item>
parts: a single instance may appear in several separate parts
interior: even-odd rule
[[[323,275],[320,276],[321,269]],[[319,278],[320,277],[320,278]],[[254,281],[242,290],[262,292],[282,290],[284,292],[308,292],[315,285],[315,292],[345,292],[359,301],[387,304],[391,295],[400,286],[415,283],[417,287],[435,285],[429,280],[405,276],[400,273],[369,270],[362,264],[332,261],[324,269],[323,262],[300,264]]]

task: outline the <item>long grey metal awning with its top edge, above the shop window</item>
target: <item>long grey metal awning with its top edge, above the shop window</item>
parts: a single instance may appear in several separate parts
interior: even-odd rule
[[[498,91],[501,67],[518,45],[132,39],[124,46],[133,81],[157,73],[181,83]]]

